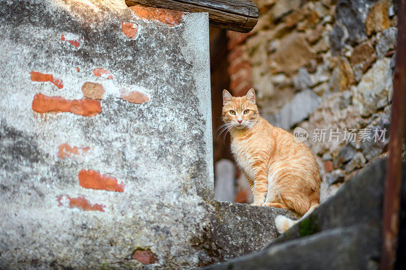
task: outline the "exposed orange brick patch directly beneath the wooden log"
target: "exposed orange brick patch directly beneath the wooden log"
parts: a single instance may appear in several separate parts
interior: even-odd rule
[[[169,27],[179,25],[183,20],[183,12],[167,9],[147,8],[142,6],[129,7],[134,13],[144,20],[157,20]]]

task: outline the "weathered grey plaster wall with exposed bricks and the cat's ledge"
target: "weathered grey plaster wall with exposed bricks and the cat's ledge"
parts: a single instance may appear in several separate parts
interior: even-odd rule
[[[190,268],[276,238],[213,200],[204,13],[0,1],[0,265]]]

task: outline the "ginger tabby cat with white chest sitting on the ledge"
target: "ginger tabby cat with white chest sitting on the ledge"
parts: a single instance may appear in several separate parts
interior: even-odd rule
[[[302,218],[319,206],[320,173],[312,151],[260,117],[254,89],[244,97],[224,90],[222,116],[233,157],[250,183],[252,205],[290,209]],[[296,222],[282,215],[275,219],[280,233]]]

